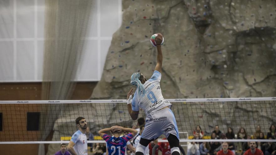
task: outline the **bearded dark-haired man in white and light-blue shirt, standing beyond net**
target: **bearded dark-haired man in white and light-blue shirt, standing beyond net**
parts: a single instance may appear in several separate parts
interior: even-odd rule
[[[79,130],[73,134],[67,149],[72,155],[87,155],[87,122],[84,117],[78,117],[76,124]]]

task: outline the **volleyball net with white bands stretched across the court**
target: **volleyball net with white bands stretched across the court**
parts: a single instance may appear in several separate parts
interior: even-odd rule
[[[271,125],[276,124],[276,97],[166,100],[173,105],[180,142],[210,141],[216,125],[223,133],[228,127],[235,134],[244,128],[249,137],[259,125],[266,137]],[[78,130],[75,119],[79,116],[86,119],[93,134],[90,143],[104,142],[98,135],[100,129],[137,124],[128,114],[126,100],[0,101],[0,144],[69,142]],[[144,111],[140,110],[139,117],[146,117]],[[204,132],[201,140],[193,139],[197,126]],[[269,141],[252,139],[238,141]]]

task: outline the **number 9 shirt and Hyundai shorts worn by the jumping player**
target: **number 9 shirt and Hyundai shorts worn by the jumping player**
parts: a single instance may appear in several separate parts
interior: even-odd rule
[[[151,79],[144,83],[146,94],[138,99],[136,89],[131,105],[133,111],[143,109],[146,113],[145,129],[141,135],[144,139],[156,139],[164,134],[166,138],[173,134],[179,139],[178,127],[173,111],[165,106],[171,107],[169,101],[164,100],[160,88],[161,73],[157,70],[153,72]]]

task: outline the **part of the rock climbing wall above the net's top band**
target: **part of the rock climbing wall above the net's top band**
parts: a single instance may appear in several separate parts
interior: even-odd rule
[[[165,98],[276,95],[276,4],[262,0],[123,1],[123,23],[113,35],[92,99],[125,98],[130,75],[150,77],[162,33]]]

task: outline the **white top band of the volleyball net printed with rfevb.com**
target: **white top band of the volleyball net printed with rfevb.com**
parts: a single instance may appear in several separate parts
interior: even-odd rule
[[[276,101],[276,97],[252,98],[203,98],[203,99],[165,99],[169,102],[226,102],[226,101]],[[118,100],[21,100],[0,101],[0,104],[68,104],[68,103],[126,103],[125,99]]]

